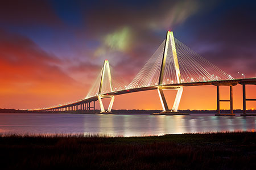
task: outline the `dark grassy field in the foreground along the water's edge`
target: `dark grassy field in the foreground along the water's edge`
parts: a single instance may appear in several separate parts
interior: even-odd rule
[[[256,169],[256,133],[0,137],[1,169]]]

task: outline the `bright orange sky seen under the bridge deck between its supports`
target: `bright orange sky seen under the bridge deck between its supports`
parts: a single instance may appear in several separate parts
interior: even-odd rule
[[[256,98],[256,86],[246,86],[247,98]],[[165,90],[168,105],[171,108],[176,91]],[[229,87],[221,86],[221,99],[229,99]],[[233,87],[234,109],[242,109],[242,86]],[[256,107],[255,101],[247,101],[246,108]],[[221,102],[221,109],[229,109],[230,105]],[[162,109],[156,90],[136,92],[115,97],[114,109]],[[217,109],[216,86],[184,87],[179,109]]]

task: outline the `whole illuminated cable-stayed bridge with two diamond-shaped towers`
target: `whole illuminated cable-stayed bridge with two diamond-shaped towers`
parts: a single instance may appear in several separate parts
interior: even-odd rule
[[[166,39],[139,71],[137,76],[128,84],[122,78],[115,76],[109,61],[105,60],[104,65],[88,95],[79,101],[55,107],[35,109],[36,111],[85,111],[94,113],[95,102],[99,101],[101,114],[112,113],[114,97],[117,95],[129,94],[139,91],[157,90],[162,104],[163,112],[156,114],[185,114],[177,112],[183,88],[188,86],[217,87],[217,113],[216,116],[234,116],[233,113],[233,86],[242,84],[243,87],[243,113],[241,116],[252,116],[246,113],[246,84],[256,85],[256,78],[234,79],[207,59],[193,52],[188,46],[174,37],[172,31],[167,31]],[[220,86],[230,87],[230,99],[220,99]],[[177,91],[172,109],[168,107],[163,90]],[[104,108],[102,99],[110,98],[108,109]],[[230,113],[220,113],[220,102],[230,103]],[[93,111],[93,112],[92,112]]]

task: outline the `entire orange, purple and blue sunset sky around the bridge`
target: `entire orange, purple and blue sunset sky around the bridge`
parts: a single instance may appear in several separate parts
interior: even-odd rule
[[[234,78],[256,77],[255,1],[1,1],[0,108],[83,99],[105,59],[131,82],[168,29]],[[255,86],[246,90],[256,97]],[[171,106],[175,91],[166,95]],[[221,98],[228,97],[228,87],[221,87]],[[179,109],[216,105],[216,87],[186,87]],[[241,108],[237,85],[234,109]],[[256,103],[248,101],[247,108]],[[115,97],[113,109],[161,109],[161,104],[157,91],[146,91]]]

